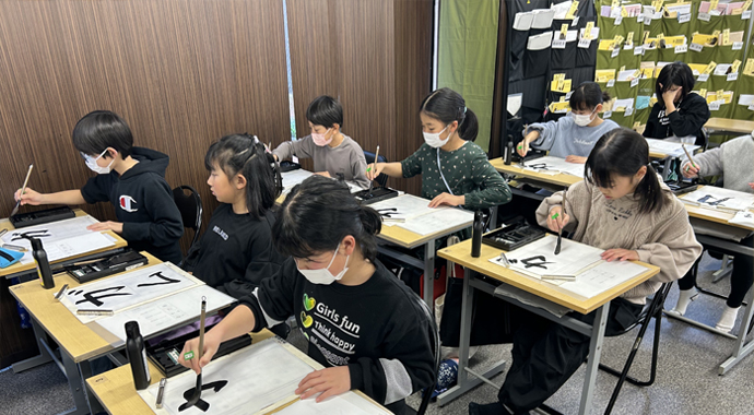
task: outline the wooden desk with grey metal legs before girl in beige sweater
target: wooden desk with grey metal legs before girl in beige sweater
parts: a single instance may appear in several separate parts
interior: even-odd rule
[[[600,363],[600,354],[602,349],[602,341],[604,339],[604,327],[609,315],[610,301],[628,289],[641,284],[653,275],[660,272],[660,269],[653,265],[645,264],[647,272],[638,275],[605,293],[602,293],[592,298],[581,298],[574,296],[565,290],[558,290],[557,286],[542,282],[540,280],[530,277],[528,275],[519,274],[515,271],[491,263],[488,260],[499,256],[500,250],[487,245],[482,245],[482,252],[479,258],[471,257],[471,241],[467,240],[453,246],[447,247],[438,251],[441,258],[456,262],[470,269],[474,272],[469,272],[463,276],[463,303],[461,308],[461,334],[460,334],[460,353],[458,363],[458,381],[457,384],[447,392],[438,396],[438,403],[445,405],[448,402],[457,399],[467,391],[475,388],[482,383],[482,379],[488,379],[503,371],[504,361],[493,365],[482,375],[475,375],[474,378],[469,378],[468,363],[469,363],[469,345],[471,337],[471,315],[473,310],[474,289],[482,289],[486,293],[494,294],[495,285],[478,278],[476,273],[484,274],[504,285],[507,284],[515,288],[522,289],[529,294],[533,294],[541,298],[544,304],[555,303],[565,306],[580,313],[589,313],[596,311],[594,322],[592,325],[586,324],[581,321],[574,320],[567,316],[558,318],[544,311],[540,308],[523,305],[507,297],[503,298],[506,301],[517,303],[516,305],[529,311],[538,313],[569,329],[576,330],[579,333],[589,335],[591,337],[589,347],[589,359],[587,364],[587,374],[581,389],[581,404],[579,414],[588,414],[591,408],[591,400],[594,383],[597,380],[597,371]]]

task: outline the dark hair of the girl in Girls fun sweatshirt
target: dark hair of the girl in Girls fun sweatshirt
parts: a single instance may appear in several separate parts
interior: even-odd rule
[[[345,183],[311,176],[285,198],[272,226],[272,241],[283,256],[308,258],[334,250],[351,235],[364,258],[375,262],[375,235],[381,227],[377,211],[358,203]]]

